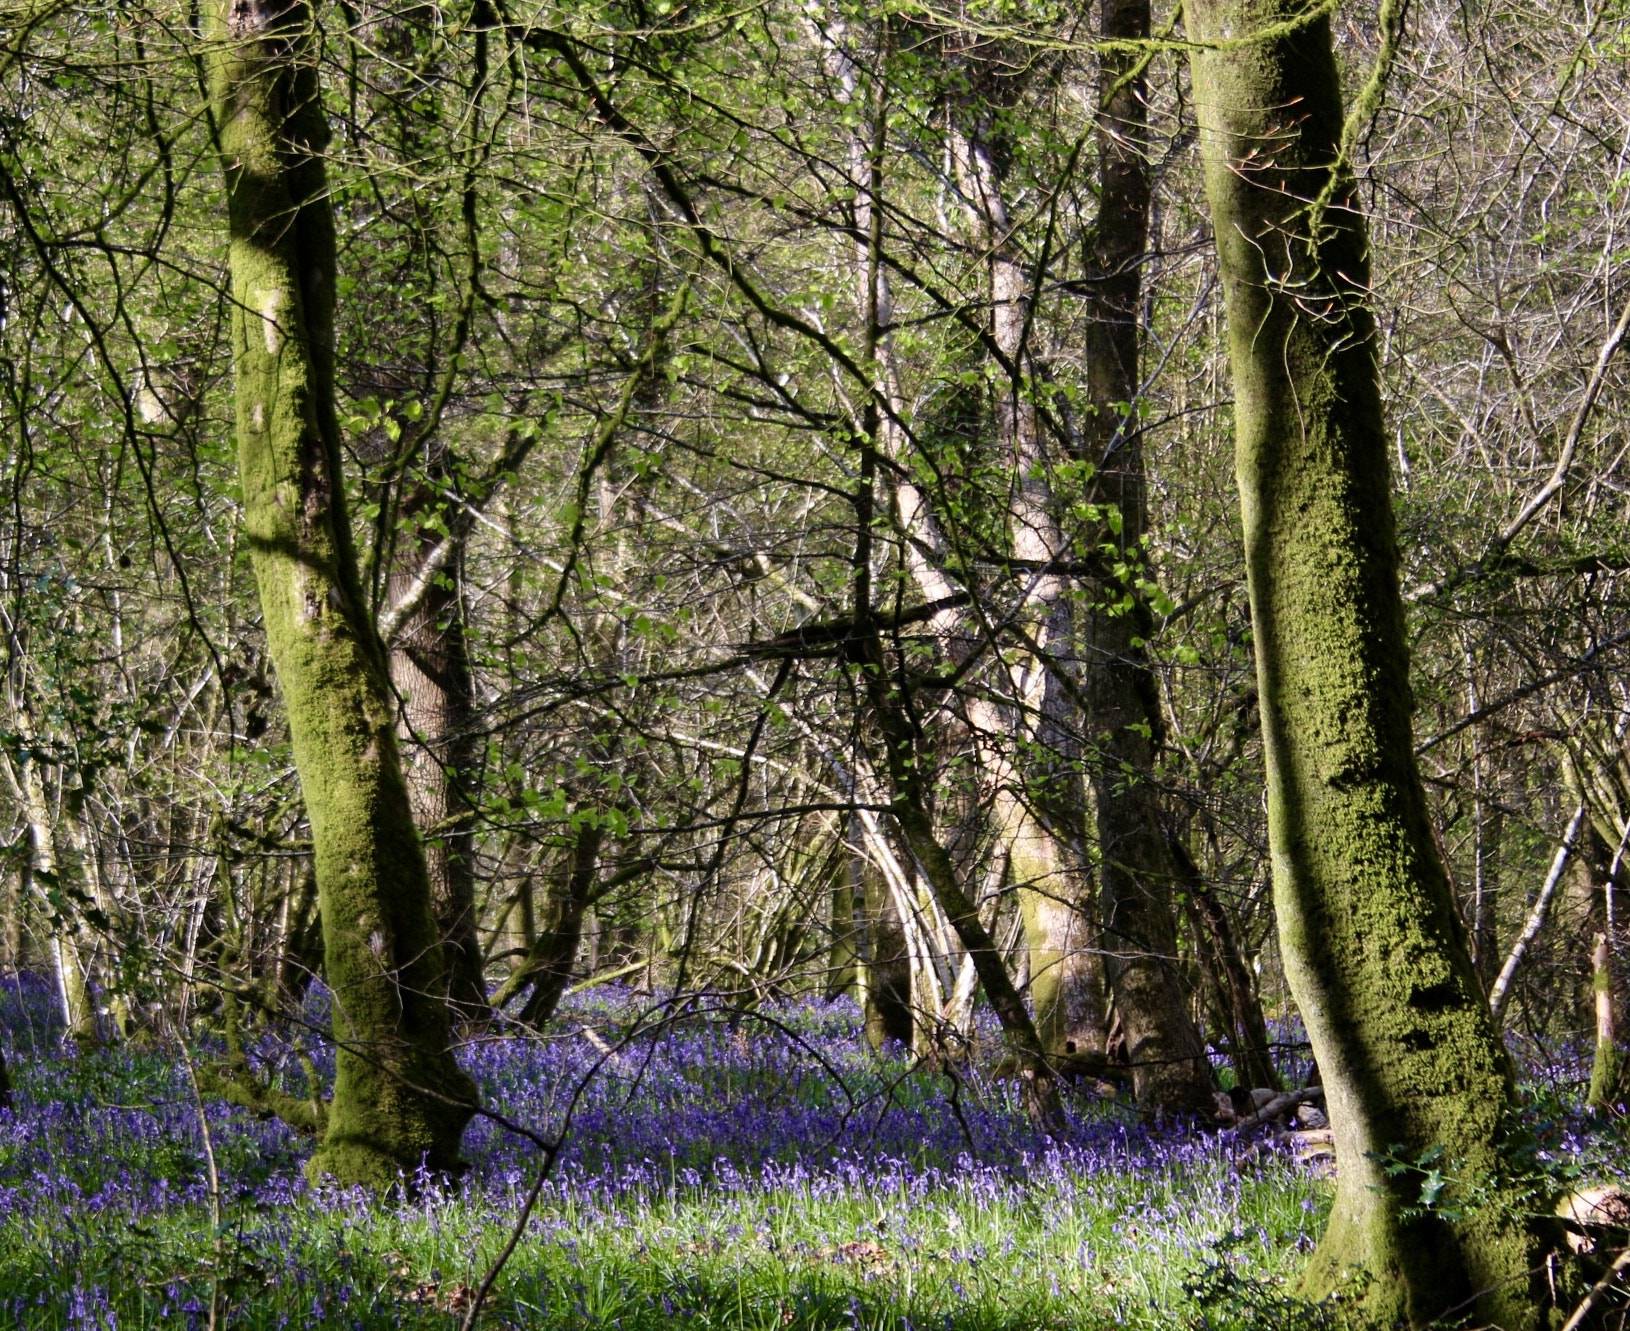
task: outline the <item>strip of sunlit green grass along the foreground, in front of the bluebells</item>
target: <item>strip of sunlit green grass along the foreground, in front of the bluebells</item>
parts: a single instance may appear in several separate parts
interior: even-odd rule
[[[678,1188],[611,1204],[546,1197],[486,1324],[526,1328],[1019,1328],[1200,1324],[1185,1289],[1227,1263],[1265,1287],[1294,1272],[1327,1186],[1276,1160],[1002,1188]],[[491,1197],[411,1206],[231,1209],[220,1235],[192,1202],[140,1222],[39,1215],[0,1225],[0,1289],[18,1324],[73,1316],[101,1290],[119,1328],[450,1326],[515,1210]],[[39,1302],[44,1300],[44,1302]],[[99,1300],[91,1300],[101,1307]],[[3,1308],[3,1305],[0,1305]],[[0,1323],[5,1311],[0,1310]]]

